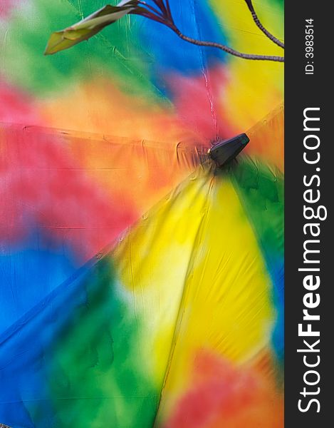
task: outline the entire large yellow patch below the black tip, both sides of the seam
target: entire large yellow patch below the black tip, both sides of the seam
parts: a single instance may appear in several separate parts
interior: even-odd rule
[[[113,259],[143,323],[147,367],[157,384],[165,377],[162,414],[191,382],[198,350],[236,364],[266,352],[271,282],[228,176],[198,168],[120,238]]]

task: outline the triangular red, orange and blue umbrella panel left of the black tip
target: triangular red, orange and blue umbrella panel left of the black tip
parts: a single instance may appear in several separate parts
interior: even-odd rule
[[[8,124],[0,138],[1,331],[184,180],[202,150]]]

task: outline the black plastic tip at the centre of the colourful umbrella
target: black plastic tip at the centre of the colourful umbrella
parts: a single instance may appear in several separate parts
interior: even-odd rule
[[[245,133],[239,134],[229,140],[220,141],[212,148],[209,148],[208,155],[221,168],[234,159],[241,150],[243,150],[249,143],[249,138]]]

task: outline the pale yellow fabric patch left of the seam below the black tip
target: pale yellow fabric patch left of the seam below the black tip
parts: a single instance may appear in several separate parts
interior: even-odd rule
[[[201,168],[126,231],[113,252],[133,311],[143,320],[157,382],[165,376],[194,242],[207,213],[211,171]],[[192,218],[189,221],[189,210]]]

